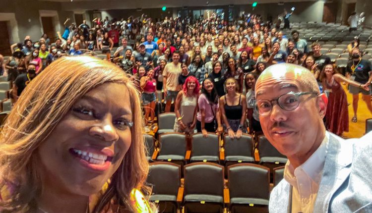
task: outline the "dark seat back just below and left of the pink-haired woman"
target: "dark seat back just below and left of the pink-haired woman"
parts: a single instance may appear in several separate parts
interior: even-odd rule
[[[162,155],[186,155],[186,135],[182,133],[165,133],[159,136]]]

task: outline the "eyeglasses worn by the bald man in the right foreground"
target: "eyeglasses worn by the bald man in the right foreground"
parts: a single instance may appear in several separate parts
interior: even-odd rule
[[[271,112],[272,107],[274,106],[273,102],[278,103],[280,108],[292,111],[295,110],[300,105],[300,97],[303,95],[319,95],[316,92],[289,92],[279,96],[277,99],[273,100],[259,100],[255,104],[255,109],[258,111],[258,114],[261,116],[266,116]]]

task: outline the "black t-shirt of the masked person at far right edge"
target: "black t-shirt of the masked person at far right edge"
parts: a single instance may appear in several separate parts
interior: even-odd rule
[[[353,71],[351,67],[355,64],[355,70]],[[357,65],[358,64],[358,65]],[[370,75],[369,72],[371,71],[371,62],[365,59],[361,59],[358,62],[350,61],[346,67],[346,71],[355,76],[355,81],[365,84],[367,83]]]

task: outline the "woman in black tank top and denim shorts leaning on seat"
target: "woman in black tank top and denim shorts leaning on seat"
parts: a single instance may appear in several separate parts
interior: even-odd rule
[[[240,138],[243,132],[247,132],[244,126],[246,120],[246,96],[238,92],[238,84],[234,78],[225,81],[226,95],[219,100],[225,133],[230,138]]]

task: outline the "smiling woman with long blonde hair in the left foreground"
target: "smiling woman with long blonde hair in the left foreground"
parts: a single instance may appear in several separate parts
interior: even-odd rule
[[[142,121],[121,69],[90,56],[55,61],[2,129],[0,211],[151,212],[130,196],[138,187],[149,195]]]

